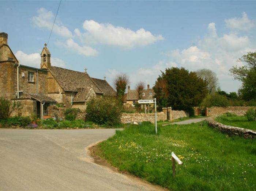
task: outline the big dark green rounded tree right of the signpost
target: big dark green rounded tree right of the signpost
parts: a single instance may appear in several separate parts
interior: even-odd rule
[[[162,71],[153,89],[160,107],[172,106],[175,110],[188,110],[199,105],[208,93],[206,82],[183,67]]]

